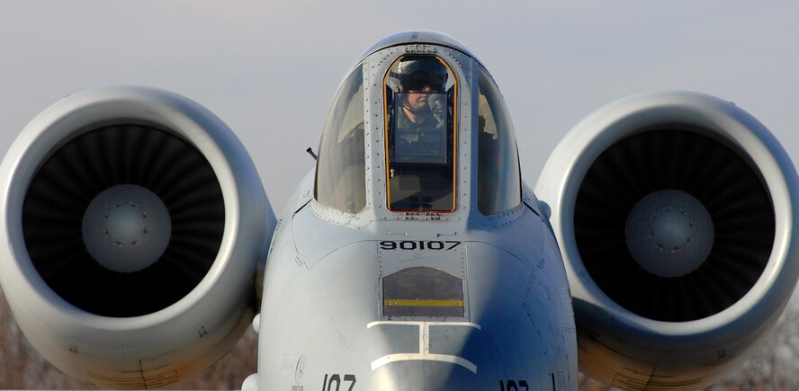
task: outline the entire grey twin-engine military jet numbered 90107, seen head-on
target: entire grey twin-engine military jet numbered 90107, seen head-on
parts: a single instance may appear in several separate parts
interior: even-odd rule
[[[697,388],[757,348],[799,271],[795,167],[750,114],[610,103],[534,192],[488,70],[429,31],[352,68],[279,218],[233,133],[156,89],[67,97],[0,168],[16,321],[97,387],[186,378],[252,324],[248,390]]]

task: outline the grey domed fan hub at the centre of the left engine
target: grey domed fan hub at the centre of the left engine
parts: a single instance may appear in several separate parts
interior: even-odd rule
[[[157,262],[171,233],[164,202],[132,184],[112,186],[98,194],[83,218],[86,250],[112,271],[140,271]]]

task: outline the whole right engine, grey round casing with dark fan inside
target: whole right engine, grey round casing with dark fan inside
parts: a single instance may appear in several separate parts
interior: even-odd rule
[[[580,369],[694,389],[740,364],[796,284],[797,183],[768,129],[707,95],[636,95],[582,120],[535,189],[552,207]]]

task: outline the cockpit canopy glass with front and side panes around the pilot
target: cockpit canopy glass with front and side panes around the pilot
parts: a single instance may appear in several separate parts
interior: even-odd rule
[[[435,43],[430,46],[435,48]],[[376,50],[371,56],[389,58],[383,70],[364,75],[362,63],[339,88],[319,146],[316,199],[357,214],[367,205],[367,173],[379,172],[381,177],[370,183],[381,188],[372,192],[384,198],[377,203],[386,205],[389,213],[453,213],[459,202],[468,200],[459,194],[472,193],[470,183],[458,181],[465,165],[477,181],[473,190],[483,215],[516,208],[521,203],[516,139],[489,73],[462,53],[471,61],[468,67],[445,60],[436,49],[419,53],[408,48],[396,50],[392,57],[391,49]],[[474,79],[477,88],[469,83]],[[382,93],[364,93],[364,82]],[[368,102],[370,96],[382,99],[382,116],[366,115],[375,107]],[[459,116],[462,111],[471,115]],[[471,124],[459,123],[464,119]],[[374,131],[366,132],[367,126]],[[472,133],[459,134],[459,127]],[[382,140],[367,140],[364,132]],[[476,137],[458,140],[474,132]],[[366,166],[369,154],[373,167]],[[471,159],[473,154],[477,159]],[[465,188],[459,191],[459,186]]]

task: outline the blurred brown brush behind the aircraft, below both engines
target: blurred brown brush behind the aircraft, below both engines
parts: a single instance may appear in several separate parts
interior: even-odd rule
[[[708,388],[722,390],[799,390],[799,299],[791,299],[777,328],[741,369]],[[222,360],[169,389],[240,389],[257,365],[257,334],[252,328]],[[0,388],[88,388],[44,360],[25,340],[0,292]],[[580,375],[582,391],[612,390]]]

